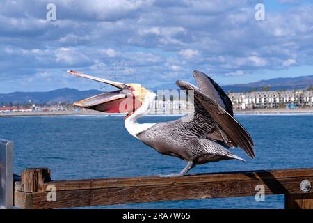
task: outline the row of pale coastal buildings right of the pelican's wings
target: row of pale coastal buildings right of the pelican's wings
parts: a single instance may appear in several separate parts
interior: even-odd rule
[[[247,93],[229,93],[234,109],[312,107],[313,91],[253,91]]]

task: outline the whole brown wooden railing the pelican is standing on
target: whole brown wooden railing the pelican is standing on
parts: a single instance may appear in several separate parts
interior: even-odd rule
[[[17,208],[68,208],[121,203],[284,194],[285,208],[313,208],[313,169],[280,169],[182,177],[60,180],[47,168],[25,169],[15,182]],[[254,199],[254,198],[252,198]]]

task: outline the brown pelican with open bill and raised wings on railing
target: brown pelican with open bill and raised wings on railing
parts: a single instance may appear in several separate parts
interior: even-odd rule
[[[193,91],[193,117],[184,116],[161,123],[137,122],[149,111],[151,102],[156,98],[155,93],[147,91],[140,84],[113,82],[71,70],[68,73],[120,89],[86,98],[74,105],[101,112],[127,113],[125,128],[131,135],[163,155],[172,155],[188,162],[179,174],[170,176],[183,176],[197,164],[230,159],[244,161],[230,152],[230,148],[234,147],[241,147],[248,156],[255,157],[250,135],[233,117],[230,98],[203,72],[193,72],[199,87],[180,80],[176,82],[187,94]]]

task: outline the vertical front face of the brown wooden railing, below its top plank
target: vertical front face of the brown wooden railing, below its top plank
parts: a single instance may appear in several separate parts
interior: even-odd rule
[[[255,196],[257,185],[264,185],[265,194],[303,193],[302,180],[313,177],[277,178],[269,180],[220,180],[209,183],[177,185],[142,185],[132,187],[109,187],[93,190],[56,191],[56,201],[47,201],[47,192],[33,193],[33,208],[65,208],[76,206],[99,206],[122,203],[145,203],[155,201],[178,201],[223,197]],[[255,199],[252,197],[251,199]]]

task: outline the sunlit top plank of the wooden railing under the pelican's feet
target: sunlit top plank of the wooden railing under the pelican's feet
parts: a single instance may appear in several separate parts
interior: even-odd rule
[[[115,187],[138,187],[154,185],[180,185],[190,183],[209,183],[233,180],[271,180],[278,178],[296,178],[313,176],[313,169],[282,169],[273,171],[243,171],[229,173],[195,174],[182,177],[159,177],[144,176],[131,178],[101,178],[85,180],[60,180],[50,181],[44,184],[47,192],[47,186],[54,185],[56,190],[90,190]],[[18,190],[18,187],[16,188]]]

